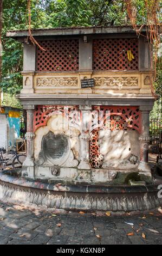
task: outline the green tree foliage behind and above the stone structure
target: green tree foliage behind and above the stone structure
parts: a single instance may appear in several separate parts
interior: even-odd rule
[[[137,23],[146,22],[144,0],[136,0]],[[161,3],[162,5],[162,3]],[[3,1],[3,65],[0,86],[15,95],[22,88],[23,47],[6,38],[7,31],[27,29],[27,0]],[[67,26],[120,26],[127,22],[123,0],[31,0],[31,28]],[[157,93],[161,95],[162,71],[157,67]]]

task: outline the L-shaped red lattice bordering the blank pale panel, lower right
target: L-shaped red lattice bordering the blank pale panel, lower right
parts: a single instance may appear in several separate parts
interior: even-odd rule
[[[94,109],[103,111],[103,120],[100,120],[102,115],[98,115],[99,128],[90,133],[89,159],[93,168],[101,168],[102,155],[100,154],[99,129],[109,129],[111,131],[137,130],[140,133],[141,114],[138,107],[94,106]],[[102,127],[100,127],[100,123],[103,124]]]

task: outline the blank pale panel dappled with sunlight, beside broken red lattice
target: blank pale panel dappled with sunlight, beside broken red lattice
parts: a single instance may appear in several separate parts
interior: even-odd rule
[[[136,143],[134,143],[134,139]],[[139,157],[139,139],[137,131],[102,130],[99,131],[100,153],[104,157],[105,167],[128,168],[131,166],[129,157]],[[134,167],[134,165],[132,165]]]

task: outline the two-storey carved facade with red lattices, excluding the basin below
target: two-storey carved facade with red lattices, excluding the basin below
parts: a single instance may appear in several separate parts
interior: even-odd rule
[[[22,175],[88,185],[113,182],[119,173],[150,177],[143,138],[154,97],[145,37],[128,27],[33,31],[43,51],[26,44],[25,33],[9,32],[24,44]],[[88,79],[93,86],[83,88]]]

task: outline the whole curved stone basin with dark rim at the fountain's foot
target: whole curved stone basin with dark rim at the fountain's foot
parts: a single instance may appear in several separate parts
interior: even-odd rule
[[[131,212],[158,208],[158,185],[64,185],[0,174],[0,199],[73,211]]]

